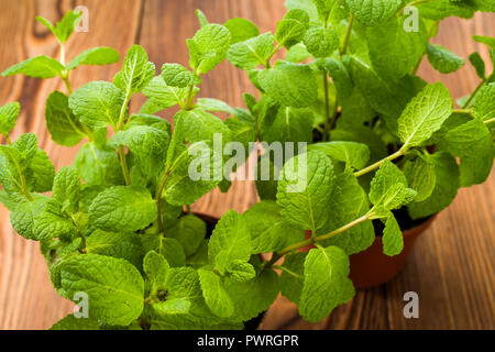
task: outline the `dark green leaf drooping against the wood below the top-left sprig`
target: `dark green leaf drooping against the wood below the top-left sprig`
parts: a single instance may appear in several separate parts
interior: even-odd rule
[[[59,91],[54,91],[46,100],[45,119],[52,140],[59,145],[74,146],[86,136],[84,127],[69,108],[67,96]]]

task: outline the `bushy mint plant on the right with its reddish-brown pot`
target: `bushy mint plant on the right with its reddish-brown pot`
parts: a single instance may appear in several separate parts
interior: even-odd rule
[[[416,73],[426,58],[442,74],[465,64],[429,43],[441,20],[495,9],[486,1],[449,0],[287,0],[286,7],[274,34],[260,34],[246,20],[230,21],[246,36],[231,45],[228,59],[261,94],[260,100],[244,98],[257,140],[268,144],[261,160],[273,162],[273,173],[256,182],[258,195],[263,202],[276,200],[286,222],[309,230],[307,244],[354,224],[323,246],[351,255],[355,286],[376,286],[397,274],[417,237],[460,187],[482,184],[491,173],[495,75],[486,73],[481,55],[470,56],[481,82],[458,100],[459,109],[441,82],[428,85]],[[487,45],[495,62],[494,38],[474,40]],[[284,183],[292,172],[286,165],[279,175],[273,142],[309,144],[306,157],[318,165],[308,175],[314,194],[280,194],[276,179]],[[323,155],[331,165],[321,166]],[[403,199],[384,208],[381,202],[394,193]]]

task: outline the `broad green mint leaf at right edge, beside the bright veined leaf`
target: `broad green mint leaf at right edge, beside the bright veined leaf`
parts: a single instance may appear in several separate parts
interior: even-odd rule
[[[480,185],[488,178],[494,150],[492,133],[482,120],[474,119],[450,130],[440,147],[460,157],[462,187]]]

